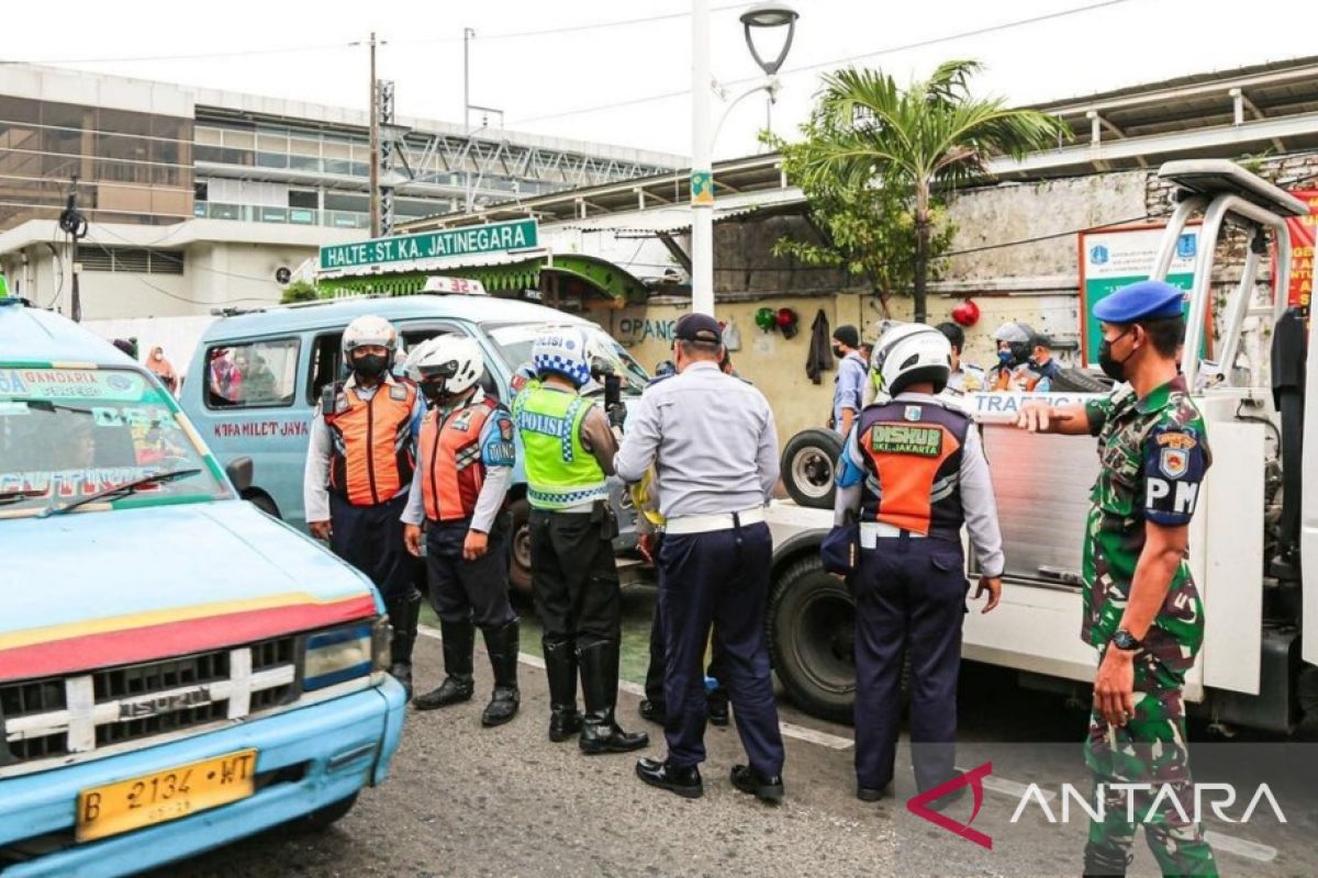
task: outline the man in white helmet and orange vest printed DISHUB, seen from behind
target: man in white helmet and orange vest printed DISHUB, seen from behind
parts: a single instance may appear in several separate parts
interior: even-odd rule
[[[911,742],[921,792],[956,775],[957,677],[966,612],[961,527],[983,577],[983,612],[1002,594],[1002,534],[979,433],[960,408],[937,399],[952,346],[932,326],[899,324],[874,346],[880,399],[846,437],[836,523],[857,512],[855,596],[857,796],[891,794],[903,653],[911,658]],[[961,794],[965,792],[962,787]],[[956,800],[944,796],[929,807]]]

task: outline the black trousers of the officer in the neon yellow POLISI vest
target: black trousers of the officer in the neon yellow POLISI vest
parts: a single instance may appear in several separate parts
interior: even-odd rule
[[[531,509],[531,588],[547,640],[618,642],[622,604],[613,520]]]

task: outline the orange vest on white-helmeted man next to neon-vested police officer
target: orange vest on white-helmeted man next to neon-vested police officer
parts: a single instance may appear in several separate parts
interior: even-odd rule
[[[436,408],[422,421],[420,492],[431,521],[461,521],[476,512],[485,484],[481,430],[496,411],[498,403],[486,396],[443,417]]]

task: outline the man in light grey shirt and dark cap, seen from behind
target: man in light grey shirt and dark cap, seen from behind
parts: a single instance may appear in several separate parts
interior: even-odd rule
[[[614,463],[638,482],[654,466],[664,538],[659,615],[664,632],[666,760],[637,774],[681,796],[704,794],[705,645],[710,623],[749,765],[731,770],[742,792],[783,798],[783,738],[764,644],[772,541],[763,507],[778,482],[778,436],[763,394],[724,374],[718,323],[677,321],[679,374],[646,388]]]

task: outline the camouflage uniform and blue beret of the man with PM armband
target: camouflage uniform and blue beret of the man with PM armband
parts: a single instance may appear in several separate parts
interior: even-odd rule
[[[1182,291],[1161,282],[1120,290],[1094,305],[1094,317],[1110,324],[1181,316]],[[1205,473],[1211,465],[1207,430],[1190,399],[1185,378],[1155,388],[1143,399],[1130,386],[1086,403],[1090,432],[1098,437],[1102,470],[1090,494],[1083,552],[1081,636],[1102,654],[1122,621],[1135,569],[1145,542],[1145,523],[1189,525]],[[1170,787],[1184,804],[1194,800],[1185,736],[1185,674],[1203,642],[1203,604],[1188,561],[1172,577],[1153,624],[1133,658],[1135,715],[1112,725],[1095,708],[1090,716],[1085,761],[1094,777],[1095,800],[1106,790],[1104,819],[1091,820],[1085,874],[1126,874],[1135,825],[1126,820],[1124,794],[1114,783]],[[1101,785],[1103,785],[1101,787]],[[1152,792],[1135,792],[1136,813],[1152,804]],[[1213,849],[1199,827],[1169,802],[1144,824],[1145,841],[1168,875],[1215,875]]]

